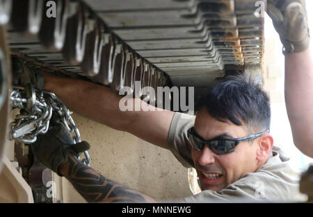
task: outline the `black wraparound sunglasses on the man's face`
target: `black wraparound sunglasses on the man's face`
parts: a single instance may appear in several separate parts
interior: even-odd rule
[[[192,127],[188,130],[188,137],[191,141],[191,145],[196,150],[202,150],[204,145],[207,145],[216,155],[225,155],[227,153],[234,152],[234,149],[241,141],[252,141],[257,137],[261,137],[262,134],[269,132],[265,130],[264,132],[259,132],[257,134],[250,134],[247,137],[241,137],[236,139],[209,139],[205,140],[200,135],[195,132],[195,128]]]

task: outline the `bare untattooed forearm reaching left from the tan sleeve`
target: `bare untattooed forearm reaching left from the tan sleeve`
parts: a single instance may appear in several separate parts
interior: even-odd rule
[[[134,134],[161,148],[168,148],[168,130],[174,112],[162,111],[126,111],[119,107],[120,99],[112,89],[85,80],[45,76],[45,89],[54,92],[73,112],[102,123],[115,130]],[[127,103],[140,103],[152,107],[139,98],[131,98]]]

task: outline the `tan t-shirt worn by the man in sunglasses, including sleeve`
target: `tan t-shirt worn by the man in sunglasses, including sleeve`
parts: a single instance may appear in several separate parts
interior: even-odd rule
[[[195,116],[176,112],[168,134],[168,146],[185,167],[194,167],[191,144],[187,130],[195,123]],[[247,173],[241,179],[220,191],[205,190],[188,198],[186,202],[249,202],[269,200],[273,202],[304,201],[307,197],[298,191],[300,174],[289,166],[289,158],[282,150],[273,147],[273,157],[255,173]]]

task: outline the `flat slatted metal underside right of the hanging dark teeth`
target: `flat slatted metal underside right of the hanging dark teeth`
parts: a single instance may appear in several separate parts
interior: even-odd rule
[[[255,0],[86,3],[132,49],[171,78],[179,71],[218,73],[227,65],[262,65],[264,18],[256,15]]]

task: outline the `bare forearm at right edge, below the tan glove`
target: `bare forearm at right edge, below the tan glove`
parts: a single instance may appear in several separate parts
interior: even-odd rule
[[[313,157],[313,62],[310,49],[285,57],[285,99],[294,144]]]

